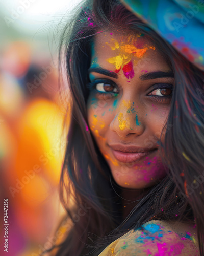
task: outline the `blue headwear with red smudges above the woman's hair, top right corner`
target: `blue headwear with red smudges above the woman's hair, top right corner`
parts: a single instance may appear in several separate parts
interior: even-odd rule
[[[204,70],[204,0],[120,0],[195,66]]]

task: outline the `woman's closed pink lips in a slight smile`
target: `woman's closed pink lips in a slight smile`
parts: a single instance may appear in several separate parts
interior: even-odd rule
[[[149,150],[141,147],[122,146],[119,144],[109,145],[109,147],[111,148],[114,157],[122,163],[132,163],[135,161],[139,161],[157,150],[157,148]]]

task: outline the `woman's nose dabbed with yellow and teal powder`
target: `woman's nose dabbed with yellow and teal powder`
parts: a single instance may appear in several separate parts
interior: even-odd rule
[[[115,110],[110,130],[116,132],[120,137],[125,138],[131,134],[139,136],[144,132],[143,113],[139,107],[136,108],[135,103],[131,100],[122,100]]]

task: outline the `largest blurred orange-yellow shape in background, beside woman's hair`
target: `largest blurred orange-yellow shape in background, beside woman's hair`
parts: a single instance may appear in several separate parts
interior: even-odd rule
[[[38,98],[18,120],[17,152],[6,175],[17,222],[34,243],[45,241],[64,214],[57,191],[66,145],[63,118],[55,103]]]

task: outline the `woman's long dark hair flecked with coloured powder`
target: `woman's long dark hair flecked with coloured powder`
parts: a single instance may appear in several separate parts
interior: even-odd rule
[[[110,29],[148,36],[175,77],[171,109],[162,132],[164,142],[160,143],[167,175],[149,189],[125,220],[121,188],[89,130],[86,110],[93,38]],[[71,111],[67,114],[70,126],[59,191],[72,225],[55,255],[98,255],[128,230],[155,219],[195,221],[203,256],[203,72],[117,0],[87,0],[79,5],[63,30],[60,63],[64,57]]]

